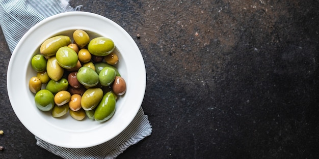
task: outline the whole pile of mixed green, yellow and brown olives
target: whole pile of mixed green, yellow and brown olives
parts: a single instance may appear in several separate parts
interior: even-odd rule
[[[99,122],[115,113],[116,100],[126,91],[117,68],[118,56],[110,38],[90,39],[85,30],[70,37],[59,35],[45,40],[31,59],[37,72],[29,81],[35,105],[51,111],[55,118],[69,114],[76,120],[86,116]]]

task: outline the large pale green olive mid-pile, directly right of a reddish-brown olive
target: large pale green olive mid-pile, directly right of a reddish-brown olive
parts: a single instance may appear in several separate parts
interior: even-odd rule
[[[98,74],[93,69],[85,66],[78,69],[76,79],[79,83],[89,87],[96,86],[99,83]]]

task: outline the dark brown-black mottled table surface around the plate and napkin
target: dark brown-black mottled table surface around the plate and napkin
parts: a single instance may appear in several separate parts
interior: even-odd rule
[[[118,158],[318,158],[319,1],[70,1],[139,46],[153,131]],[[140,38],[137,38],[137,35]],[[0,158],[60,158],[11,108],[0,34]]]

